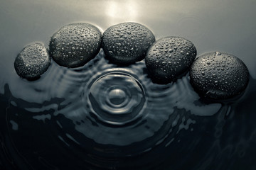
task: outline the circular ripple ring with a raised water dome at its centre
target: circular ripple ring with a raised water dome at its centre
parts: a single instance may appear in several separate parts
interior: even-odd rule
[[[97,118],[124,125],[141,113],[146,97],[142,84],[126,72],[108,72],[91,82],[88,98]]]

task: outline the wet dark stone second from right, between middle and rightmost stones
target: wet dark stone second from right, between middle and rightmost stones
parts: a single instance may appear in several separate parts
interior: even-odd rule
[[[149,47],[145,62],[152,81],[166,84],[188,72],[196,58],[196,47],[180,37],[166,37]]]

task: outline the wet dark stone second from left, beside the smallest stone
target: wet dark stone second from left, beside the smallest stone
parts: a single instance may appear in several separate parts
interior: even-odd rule
[[[102,34],[90,23],[72,23],[50,38],[50,56],[64,67],[81,67],[100,52]]]

